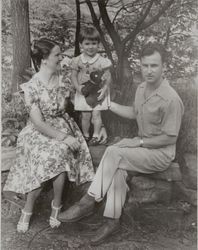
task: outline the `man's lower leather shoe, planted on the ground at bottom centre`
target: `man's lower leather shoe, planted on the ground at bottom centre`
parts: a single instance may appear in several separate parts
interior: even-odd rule
[[[108,219],[108,222],[100,227],[96,235],[91,240],[92,246],[97,246],[103,243],[109,236],[117,233],[120,230],[120,223],[118,219]]]

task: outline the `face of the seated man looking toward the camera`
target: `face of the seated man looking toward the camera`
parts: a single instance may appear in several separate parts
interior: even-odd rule
[[[161,55],[157,51],[141,58],[142,77],[149,84],[155,85],[161,80],[163,68]]]

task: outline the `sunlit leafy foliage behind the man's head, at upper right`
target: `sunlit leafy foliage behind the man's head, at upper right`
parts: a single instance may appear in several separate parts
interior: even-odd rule
[[[99,1],[95,2],[99,5]],[[129,52],[127,52],[127,55],[133,73],[140,71],[138,55],[142,45],[148,41],[157,40],[164,44],[169,52],[166,72],[169,78],[194,76],[197,74],[198,63],[198,35],[195,25],[197,21],[197,3],[195,0],[175,0],[162,13],[157,22],[155,21],[152,25],[149,25],[149,22],[160,11],[160,8],[163,8],[166,2],[168,1],[107,1],[105,8],[109,24],[105,25],[103,35],[113,53],[117,50],[116,43],[121,46],[127,37],[131,35],[125,44],[124,50]],[[95,7],[93,2],[92,5]],[[146,14],[147,10],[149,11]],[[98,14],[101,25],[103,23],[100,17],[103,15],[104,13],[101,12]],[[115,30],[112,36],[107,32],[108,26]],[[115,63],[117,64],[118,58],[113,57],[116,59]]]

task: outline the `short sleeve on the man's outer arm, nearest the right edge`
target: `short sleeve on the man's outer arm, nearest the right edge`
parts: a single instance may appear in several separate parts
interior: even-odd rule
[[[181,126],[181,120],[184,113],[182,101],[179,98],[172,99],[165,108],[165,114],[162,120],[162,132],[167,135],[177,136]]]

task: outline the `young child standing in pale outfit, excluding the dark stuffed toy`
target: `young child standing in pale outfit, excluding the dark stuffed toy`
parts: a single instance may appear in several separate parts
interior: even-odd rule
[[[80,33],[80,46],[82,53],[73,58],[71,63],[72,74],[71,81],[75,86],[76,93],[74,99],[74,108],[76,111],[82,111],[82,131],[89,145],[99,143],[98,136],[102,126],[101,110],[107,110],[110,103],[109,85],[111,82],[111,61],[98,54],[100,35],[92,27],[84,27]],[[98,91],[98,105],[94,108],[89,106],[83,96],[81,89],[83,83],[90,80],[90,73],[96,70],[104,70],[102,77],[102,88]],[[90,138],[90,123],[93,123],[93,136]]]

